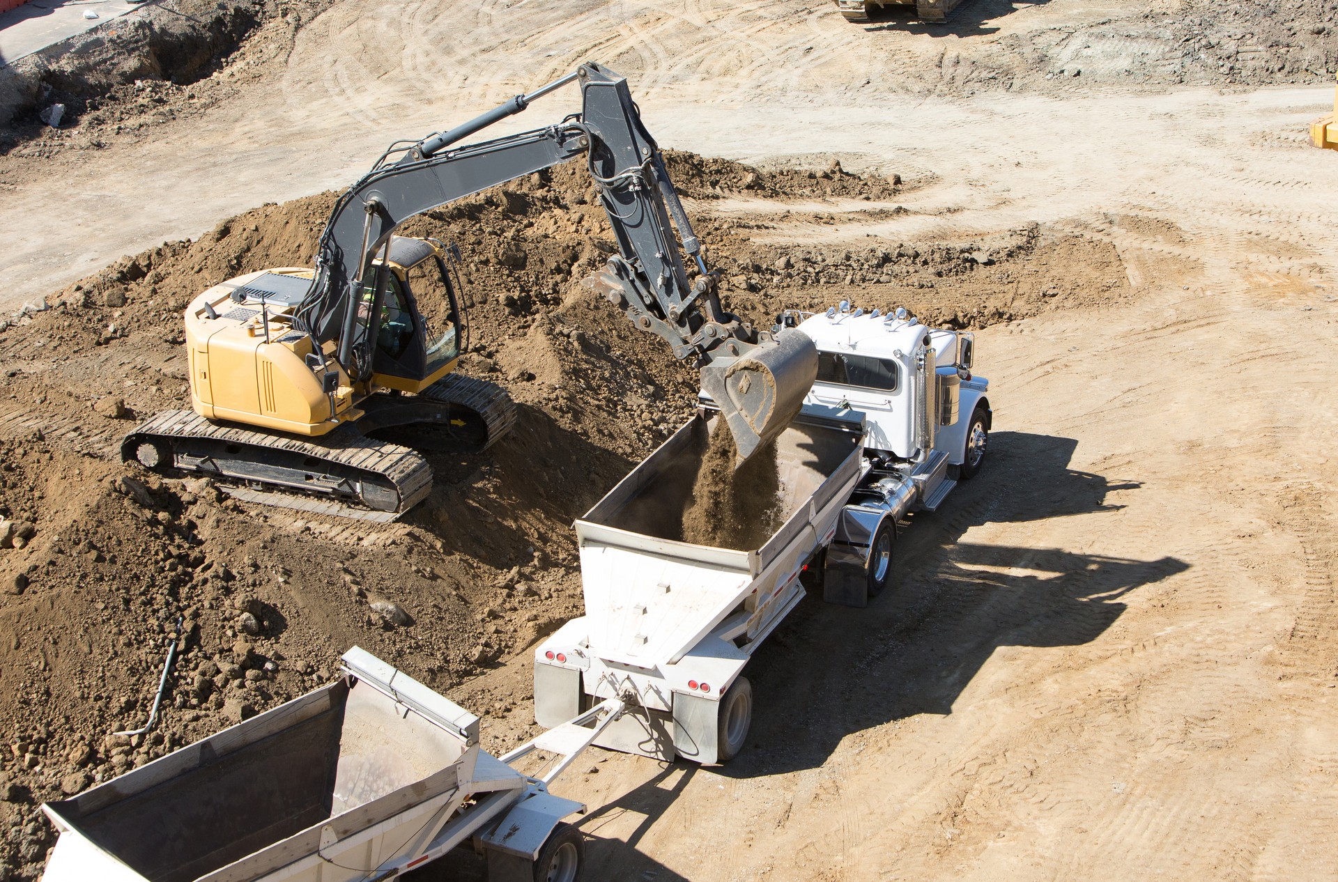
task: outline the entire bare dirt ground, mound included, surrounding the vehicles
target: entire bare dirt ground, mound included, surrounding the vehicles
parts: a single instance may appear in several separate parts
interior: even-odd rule
[[[678,158],[732,304],[851,297],[979,328],[995,434],[985,474],[907,526],[890,592],[805,601],[776,633],[735,763],[601,754],[566,779],[594,808],[591,878],[1338,875],[1338,193],[1302,134],[1331,90],[1282,87],[1331,75],[1333,9],[969,3],[931,31],[822,4],[475,4],[459,43],[459,9],[401,5],[336,4],[187,120],[0,158],[7,296],[63,304],[0,333],[0,514],[35,529],[0,550],[21,590],[0,598],[5,871],[40,869],[33,806],[62,784],[269,707],[351,644],[486,715],[494,747],[531,731],[524,648],[579,610],[567,525],[692,393],[574,285],[603,236],[575,182],[420,221],[472,261],[466,369],[523,418],[487,456],[435,459],[400,525],[126,483],[128,422],[92,406],[179,400],[183,298],[309,256],[329,197],[221,217],[597,56],[662,143],[815,170],[759,187]],[[120,253],[139,256],[99,272]],[[379,597],[415,624],[384,624]],[[177,613],[171,740],[107,740],[142,721]]]

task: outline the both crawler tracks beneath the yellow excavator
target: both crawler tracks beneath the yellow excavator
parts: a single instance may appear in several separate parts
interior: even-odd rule
[[[506,389],[454,373],[419,395],[375,395],[363,407],[367,416],[356,424],[320,438],[165,411],[126,435],[120,455],[155,471],[217,478],[245,502],[384,523],[427,498],[432,468],[413,448],[369,432],[424,426],[452,450],[482,451],[516,418]]]

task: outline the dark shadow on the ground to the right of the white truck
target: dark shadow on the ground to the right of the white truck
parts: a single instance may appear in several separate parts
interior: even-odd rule
[[[971,526],[1101,517],[1137,482],[1068,467],[1076,442],[995,432],[985,471],[906,529],[896,576],[866,609],[812,594],[748,665],[749,747],[724,775],[816,768],[843,737],[919,713],[947,715],[1001,646],[1077,646],[1125,610],[1123,598],[1189,567],[1054,547],[961,542]],[[1113,523],[1113,522],[1112,522]],[[815,660],[819,660],[815,664]]]

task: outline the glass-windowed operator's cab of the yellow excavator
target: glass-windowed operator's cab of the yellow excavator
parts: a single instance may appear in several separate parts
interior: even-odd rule
[[[384,290],[375,323],[372,304],[376,302],[376,276],[364,285],[359,308],[359,324],[375,324],[376,347],[372,356],[372,381],[401,392],[421,392],[428,385],[455,369],[460,357],[462,315],[455,286],[444,260],[446,248],[435,241],[391,237],[384,268]],[[381,269],[383,261],[373,264]],[[428,315],[444,316],[440,327],[434,327],[419,309],[413,286],[434,302]]]

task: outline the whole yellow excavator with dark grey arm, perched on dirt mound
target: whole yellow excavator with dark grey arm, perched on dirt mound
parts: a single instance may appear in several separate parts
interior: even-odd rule
[[[458,146],[573,82],[582,112]],[[432,471],[416,450],[384,439],[388,430],[427,424],[429,444],[484,448],[516,415],[504,389],[454,373],[466,333],[450,272],[459,252],[395,230],[578,157],[618,245],[590,284],[701,369],[743,462],[799,411],[816,349],[803,333],[756,331],[723,309],[717,277],[626,80],[593,63],[463,126],[392,145],[337,201],[314,268],[249,273],[195,297],[185,317],[191,410],[138,426],[122,442],[123,459],[210,475],[244,499],[399,517],[427,497]],[[415,289],[439,300],[436,327]]]

